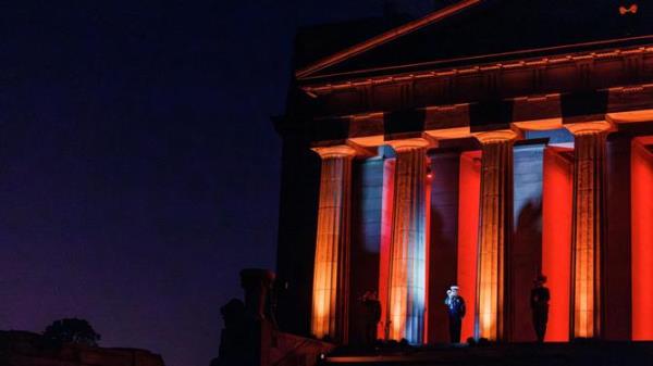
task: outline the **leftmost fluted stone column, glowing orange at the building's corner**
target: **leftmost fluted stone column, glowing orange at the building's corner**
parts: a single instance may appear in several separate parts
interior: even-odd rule
[[[352,161],[348,146],[313,149],[322,159],[313,269],[311,332],[347,342],[349,206]]]

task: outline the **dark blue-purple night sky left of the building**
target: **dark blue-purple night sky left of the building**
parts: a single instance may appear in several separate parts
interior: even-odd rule
[[[383,1],[161,3],[0,5],[0,329],[205,366],[238,270],[274,267],[294,34]]]

